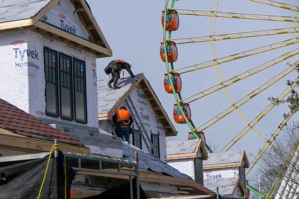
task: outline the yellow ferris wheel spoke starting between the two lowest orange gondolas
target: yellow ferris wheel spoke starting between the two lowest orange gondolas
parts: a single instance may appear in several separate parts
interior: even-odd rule
[[[249,94],[245,95],[244,97],[242,97],[241,99],[236,101],[234,104],[230,105],[229,107],[227,107],[226,109],[224,109],[220,113],[216,114],[214,117],[207,120],[205,123],[201,124],[196,129],[200,128],[201,131],[204,131],[205,129],[207,129],[211,125],[215,124],[216,122],[218,122],[219,120],[221,120],[222,118],[224,118],[225,116],[227,116],[228,114],[230,114],[231,112],[233,112],[234,110],[239,108],[240,106],[244,105],[250,99],[252,99],[255,96],[259,95],[261,92],[263,92],[264,90],[266,90],[267,88],[269,88],[270,86],[275,84],[277,81],[281,80],[284,76],[286,76],[290,72],[294,71],[297,67],[296,63],[298,63],[298,62],[299,62],[299,60],[297,60],[297,62],[295,62],[292,66],[289,66],[289,67],[285,68],[284,70],[279,72],[277,75],[273,76],[271,79],[269,79],[268,81],[266,81],[261,86],[254,89],[253,91],[251,91]]]

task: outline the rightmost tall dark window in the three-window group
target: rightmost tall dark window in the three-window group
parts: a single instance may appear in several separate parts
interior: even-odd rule
[[[85,62],[74,59],[75,119],[86,123],[86,77]]]

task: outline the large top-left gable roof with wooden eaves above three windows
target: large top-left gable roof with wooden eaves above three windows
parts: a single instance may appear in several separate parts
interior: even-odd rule
[[[77,10],[81,24],[88,31],[89,40],[40,21],[59,0],[9,0],[0,2],[0,32],[31,30],[87,51],[97,58],[112,56],[112,50],[86,1],[69,1]]]

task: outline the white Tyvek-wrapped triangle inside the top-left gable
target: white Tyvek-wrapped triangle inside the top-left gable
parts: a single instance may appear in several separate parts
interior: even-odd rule
[[[70,34],[88,39],[89,34],[80,22],[76,8],[69,0],[60,0],[40,21]]]

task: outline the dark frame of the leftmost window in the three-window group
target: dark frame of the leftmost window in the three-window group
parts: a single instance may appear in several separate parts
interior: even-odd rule
[[[53,53],[53,54],[55,54],[55,70],[56,70],[56,72],[55,72],[55,77],[56,77],[56,86],[55,86],[55,88],[56,88],[56,113],[53,113],[53,112],[48,112],[47,111],[47,97],[46,97],[46,83],[48,82],[47,81],[47,78],[46,78],[46,62],[45,62],[45,52],[50,52],[50,53]],[[59,68],[58,68],[58,56],[57,56],[57,54],[58,54],[58,51],[56,51],[56,50],[52,50],[52,49],[50,49],[50,48],[47,48],[47,47],[44,47],[44,73],[45,73],[45,102],[46,102],[46,107],[45,107],[45,113],[46,113],[46,115],[47,116],[52,116],[52,117],[59,117],[59,107],[60,107],[60,104],[59,104],[59,77],[58,77],[58,70],[59,70]],[[51,58],[52,59],[52,58]],[[48,58],[48,60],[49,60],[49,58]],[[49,83],[53,83],[53,82],[49,82]]]

